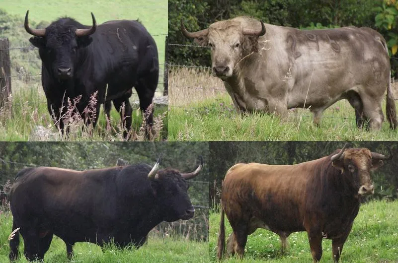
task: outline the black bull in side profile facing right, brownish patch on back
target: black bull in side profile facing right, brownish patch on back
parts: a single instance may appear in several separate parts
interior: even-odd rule
[[[140,247],[160,222],[193,217],[186,180],[199,174],[200,161],[186,174],[159,170],[159,160],[154,167],[137,164],[82,172],[26,168],[18,172],[9,194],[12,229],[20,227],[30,261],[44,258],[53,235],[65,242],[69,258],[76,242]],[[10,260],[18,258],[18,245],[17,232],[10,241]]]

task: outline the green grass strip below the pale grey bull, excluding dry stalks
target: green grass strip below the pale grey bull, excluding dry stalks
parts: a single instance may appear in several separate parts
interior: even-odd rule
[[[358,130],[354,109],[346,101],[326,109],[320,127],[313,123],[313,114],[302,109],[290,111],[284,122],[260,113],[240,116],[227,94],[187,106],[171,106],[168,114],[170,141],[398,139],[398,132],[389,129],[385,113],[381,131]]]

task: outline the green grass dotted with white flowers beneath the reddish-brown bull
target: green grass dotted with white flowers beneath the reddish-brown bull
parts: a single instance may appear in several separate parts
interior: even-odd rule
[[[398,262],[398,200],[370,201],[361,205],[351,233],[344,244],[341,263],[397,263]],[[226,239],[232,232],[226,217]],[[210,212],[210,262],[217,262],[217,239],[220,212]],[[243,260],[235,257],[224,262],[254,263],[307,263],[312,262],[306,232],[292,233],[288,249],[281,255],[279,236],[271,231],[257,229],[248,236]],[[322,241],[321,263],[333,262],[331,240]]]

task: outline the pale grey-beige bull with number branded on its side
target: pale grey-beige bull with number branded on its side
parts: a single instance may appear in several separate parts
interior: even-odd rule
[[[347,99],[358,128],[380,130],[387,89],[387,118],[396,129],[386,41],[370,28],[322,30],[264,24],[248,17],[218,21],[184,36],[211,47],[212,72],[224,81],[239,112],[262,111],[282,118],[291,108],[309,108],[314,122]]]

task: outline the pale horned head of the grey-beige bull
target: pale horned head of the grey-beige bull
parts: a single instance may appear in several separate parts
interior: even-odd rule
[[[265,25],[261,21],[258,28],[242,28],[239,21],[225,20],[201,31],[188,32],[181,20],[181,32],[185,37],[194,38],[198,44],[211,47],[213,75],[225,80],[233,75],[235,66],[244,57],[243,51],[251,45],[246,38],[264,35]]]

